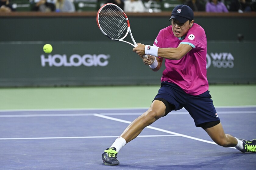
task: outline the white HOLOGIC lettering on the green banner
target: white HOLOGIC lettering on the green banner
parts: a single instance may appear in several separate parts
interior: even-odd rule
[[[64,55],[60,54],[55,54],[55,55],[48,55],[44,56],[41,55],[41,65],[45,67],[46,65],[52,67],[60,67],[60,66],[65,66],[65,67],[71,67],[71,66],[107,66],[108,65],[108,59],[110,58],[109,55],[105,54],[85,54],[83,56],[80,56],[78,54],[73,54],[69,58]]]

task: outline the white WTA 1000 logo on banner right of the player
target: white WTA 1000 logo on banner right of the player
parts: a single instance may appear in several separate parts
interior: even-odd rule
[[[234,57],[231,53],[210,53],[206,55],[208,69],[211,65],[217,68],[233,68]]]

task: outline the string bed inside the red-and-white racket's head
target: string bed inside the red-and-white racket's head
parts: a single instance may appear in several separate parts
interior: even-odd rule
[[[113,39],[121,39],[125,36],[128,27],[126,18],[122,11],[114,5],[106,5],[99,13],[101,29]],[[121,37],[121,38],[120,38]]]

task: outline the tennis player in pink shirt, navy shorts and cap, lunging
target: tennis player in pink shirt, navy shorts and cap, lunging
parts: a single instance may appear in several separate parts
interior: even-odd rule
[[[160,117],[183,107],[194,119],[196,127],[202,127],[216,144],[236,147],[241,152],[256,152],[256,139],[237,139],[224,133],[208,91],[206,35],[204,29],[194,23],[192,9],[178,5],[170,20],[172,25],[159,32],[153,46],[138,43],[133,49],[153,71],[160,69],[165,58],[166,69],[162,74],[161,88],[150,108],[126,127],[102,154],[105,165],[118,165],[117,153],[126,143]],[[143,57],[145,54],[147,58]]]

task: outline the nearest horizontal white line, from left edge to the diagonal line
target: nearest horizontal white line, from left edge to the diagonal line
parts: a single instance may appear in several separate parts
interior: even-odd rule
[[[171,135],[139,135],[138,137],[168,137]],[[0,138],[0,140],[21,140],[21,139],[80,139],[80,138],[118,138],[119,136],[77,136],[77,137],[44,137],[44,138]]]

